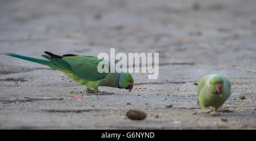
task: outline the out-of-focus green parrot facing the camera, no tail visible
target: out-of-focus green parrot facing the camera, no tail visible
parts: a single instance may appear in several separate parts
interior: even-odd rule
[[[197,85],[197,96],[203,109],[212,106],[217,111],[231,94],[228,78],[220,74],[208,74]]]

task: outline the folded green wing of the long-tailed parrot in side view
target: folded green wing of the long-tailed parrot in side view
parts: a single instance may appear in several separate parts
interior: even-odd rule
[[[68,56],[63,57],[62,60],[72,67],[73,72],[86,80],[101,80],[109,74],[98,72],[98,64],[105,60],[98,59],[96,56]],[[110,70],[110,63],[105,61],[105,64],[108,64],[107,67]]]

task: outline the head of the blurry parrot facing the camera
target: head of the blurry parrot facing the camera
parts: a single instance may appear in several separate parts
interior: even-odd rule
[[[210,92],[220,94],[222,92],[224,80],[221,77],[213,76],[209,79]]]

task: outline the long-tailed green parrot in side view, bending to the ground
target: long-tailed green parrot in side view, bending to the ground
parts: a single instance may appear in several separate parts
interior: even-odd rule
[[[54,55],[51,52],[44,52],[47,55],[42,55],[48,60],[36,59],[33,57],[27,57],[22,55],[16,55],[14,53],[1,53],[2,55],[8,55],[32,61],[35,63],[47,65],[53,69],[64,72],[73,80],[79,84],[84,85],[86,90],[99,92],[98,86],[110,86],[121,89],[133,89],[133,76],[125,70],[115,68],[110,61],[98,59],[96,56],[74,55],[67,54],[63,56]],[[108,67],[109,73],[98,72],[98,64],[101,61],[105,61],[108,65],[102,67]],[[110,73],[110,66],[115,68],[114,73]]]

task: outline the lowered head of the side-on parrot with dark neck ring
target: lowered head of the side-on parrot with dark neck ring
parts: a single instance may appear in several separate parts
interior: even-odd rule
[[[118,76],[118,88],[121,89],[133,89],[133,76],[129,72],[121,72]]]

